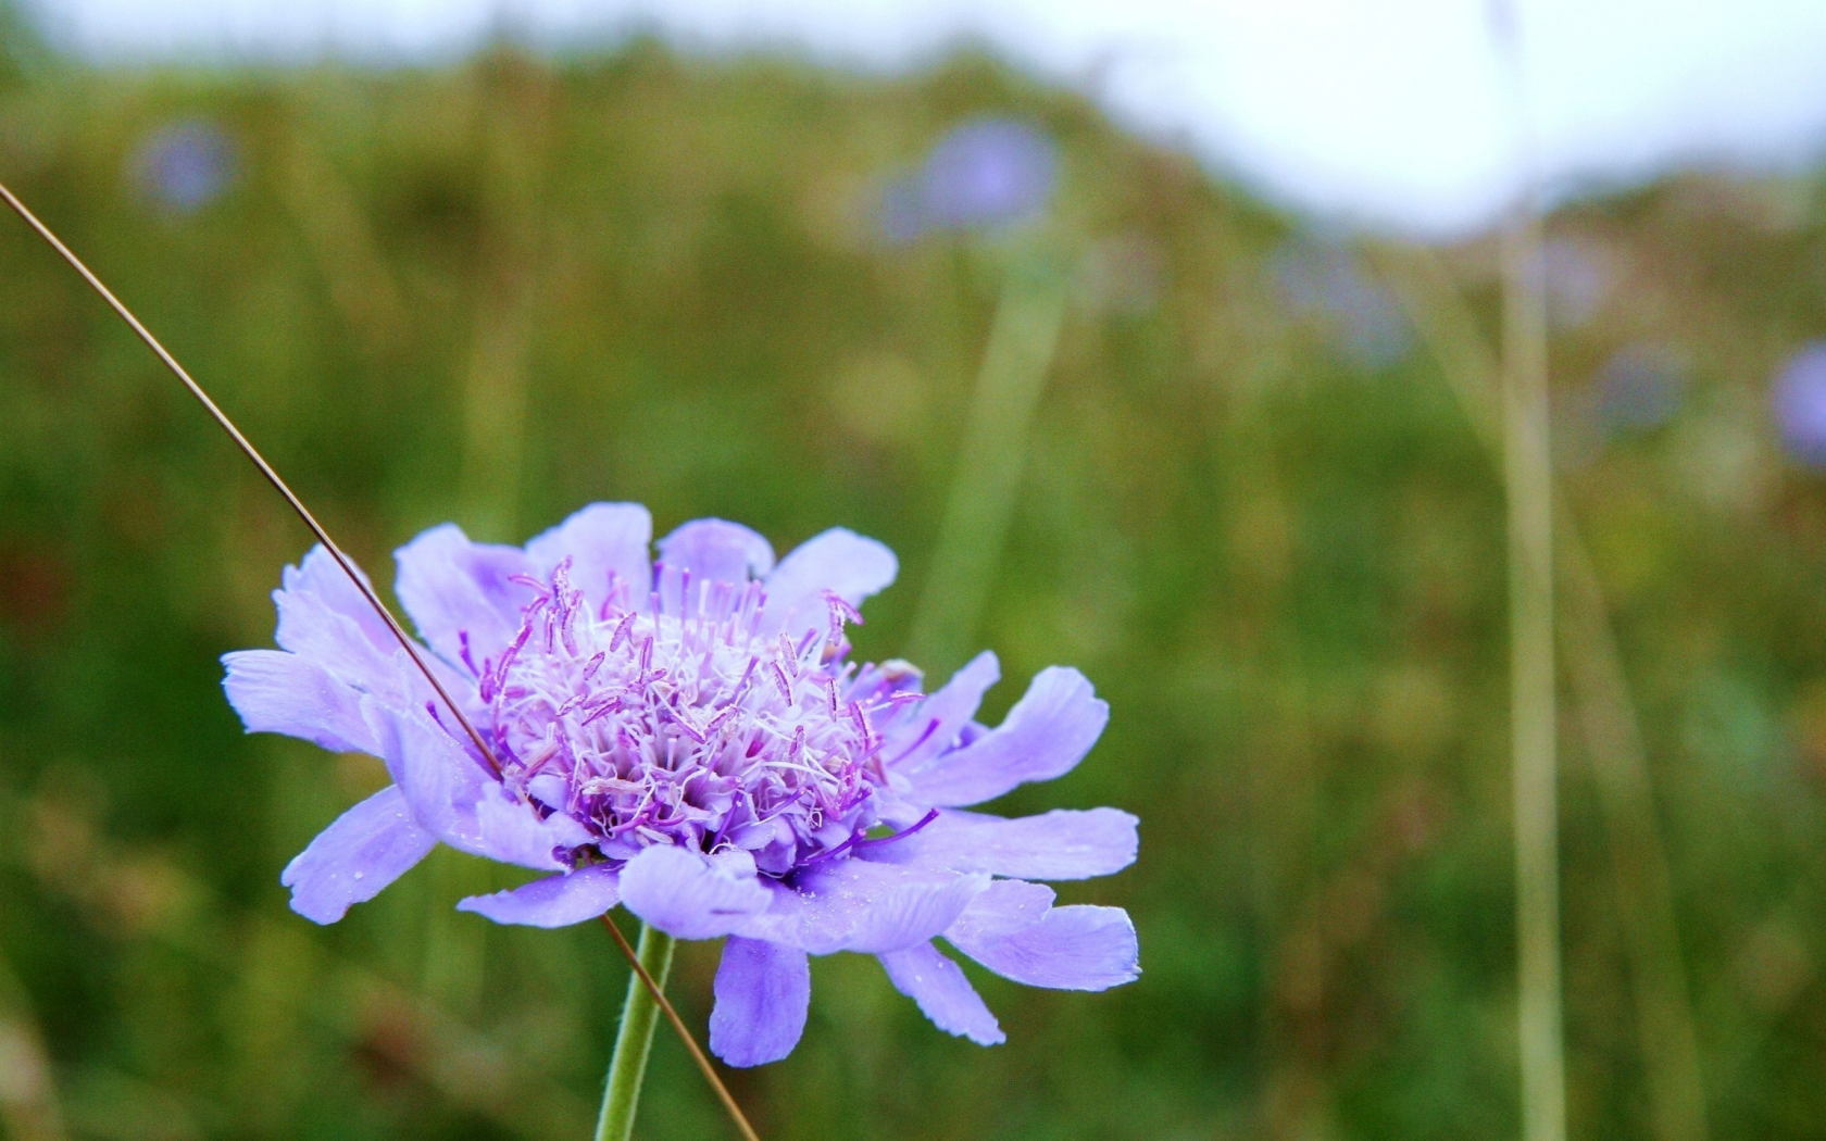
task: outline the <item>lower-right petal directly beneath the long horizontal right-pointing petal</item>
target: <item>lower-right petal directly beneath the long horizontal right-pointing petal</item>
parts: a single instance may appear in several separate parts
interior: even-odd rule
[[[1121,907],[1052,907],[1013,933],[959,924],[944,937],[997,975],[1028,986],[1101,991],[1141,977],[1136,926]]]

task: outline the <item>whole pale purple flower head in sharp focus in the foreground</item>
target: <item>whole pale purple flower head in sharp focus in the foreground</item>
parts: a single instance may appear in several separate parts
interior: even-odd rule
[[[398,551],[424,657],[489,745],[478,754],[362,593],[321,551],[287,568],[279,650],[228,654],[250,732],[382,758],[393,785],[349,809],[281,882],[320,924],[373,898],[438,842],[550,871],[458,904],[559,927],[617,904],[679,938],[719,938],[710,1048],[791,1053],[807,955],[876,955],[942,1030],[1002,1041],[944,938],[990,971],[1065,989],[1138,977],[1118,907],[1054,905],[1034,880],[1136,858],[1118,809],[1006,820],[962,811],[1068,772],[1108,707],[1043,670],[999,728],[975,721],[982,654],[933,694],[906,663],[849,663],[845,626],[893,553],[844,529],[778,566],[754,531],[698,520],[648,546],[634,504],[593,504],[526,548],[455,526]]]

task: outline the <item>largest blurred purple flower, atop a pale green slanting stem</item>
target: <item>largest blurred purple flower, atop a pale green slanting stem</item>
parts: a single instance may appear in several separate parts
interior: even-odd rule
[[[918,175],[887,188],[895,241],[931,230],[997,230],[1039,217],[1059,181],[1059,148],[1030,122],[977,119],[931,148]]]

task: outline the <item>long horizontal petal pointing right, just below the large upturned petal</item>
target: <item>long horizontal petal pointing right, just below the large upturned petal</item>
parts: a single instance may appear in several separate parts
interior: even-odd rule
[[[1021,880],[1088,880],[1136,862],[1139,823],[1121,809],[1055,809],[1017,820],[946,809],[918,832],[884,843],[869,858]]]

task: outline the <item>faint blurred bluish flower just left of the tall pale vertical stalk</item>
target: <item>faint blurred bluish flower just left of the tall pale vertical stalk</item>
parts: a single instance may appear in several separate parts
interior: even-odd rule
[[[1349,252],[1291,241],[1275,252],[1269,270],[1287,305],[1324,323],[1357,367],[1388,369],[1408,356],[1408,319],[1401,305]]]

